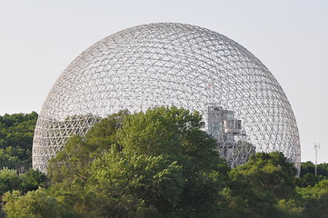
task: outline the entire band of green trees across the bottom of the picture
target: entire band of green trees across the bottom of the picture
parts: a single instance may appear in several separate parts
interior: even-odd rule
[[[36,118],[0,116],[1,149],[20,151],[0,156],[3,217],[328,217],[327,163],[297,178],[282,153],[257,153],[232,169],[197,112],[112,114],[72,136],[46,176],[30,169]]]

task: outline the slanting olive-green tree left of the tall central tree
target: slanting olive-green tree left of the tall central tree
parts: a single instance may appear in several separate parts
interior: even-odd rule
[[[109,151],[113,144],[117,144],[117,130],[129,113],[124,110],[109,115],[83,137],[72,136],[65,144],[64,150],[59,152],[48,164],[48,176],[51,183],[64,180],[79,180],[84,183],[89,177],[90,163],[100,154]]]

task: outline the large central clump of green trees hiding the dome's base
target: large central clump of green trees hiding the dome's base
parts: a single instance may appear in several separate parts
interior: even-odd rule
[[[79,190],[65,196],[89,217],[216,217],[229,167],[203,127],[200,114],[176,107],[113,114],[51,161],[51,189]]]

